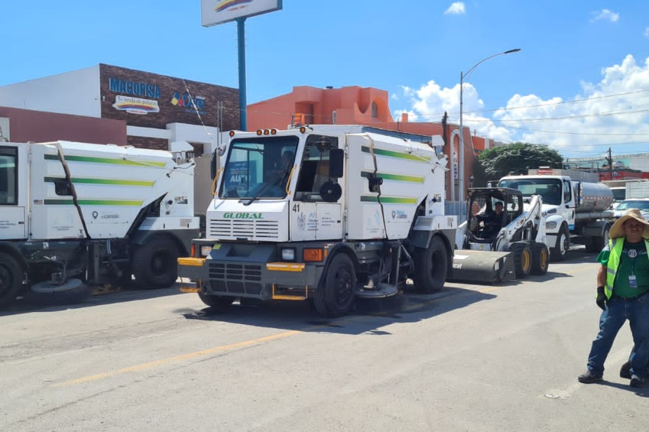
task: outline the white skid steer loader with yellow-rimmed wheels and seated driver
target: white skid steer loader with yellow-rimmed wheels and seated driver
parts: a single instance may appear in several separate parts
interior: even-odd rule
[[[543,200],[534,195],[529,210],[517,189],[468,189],[467,221],[458,227],[452,280],[499,283],[548,271]],[[502,206],[502,210],[500,209]]]

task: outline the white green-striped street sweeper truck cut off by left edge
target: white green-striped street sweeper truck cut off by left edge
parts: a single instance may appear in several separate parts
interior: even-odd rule
[[[0,306],[80,300],[132,276],[174,283],[199,232],[191,146],[177,144],[0,143]]]

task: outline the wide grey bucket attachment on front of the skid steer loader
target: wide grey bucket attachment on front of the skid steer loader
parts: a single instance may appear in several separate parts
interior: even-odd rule
[[[456,250],[453,273],[447,280],[495,284],[515,278],[511,252]]]

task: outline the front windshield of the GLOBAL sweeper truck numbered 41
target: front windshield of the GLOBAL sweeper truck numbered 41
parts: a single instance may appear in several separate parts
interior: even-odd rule
[[[286,197],[297,143],[297,136],[233,140],[219,198]]]

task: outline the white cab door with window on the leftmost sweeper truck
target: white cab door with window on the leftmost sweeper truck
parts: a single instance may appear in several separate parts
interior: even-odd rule
[[[27,147],[0,147],[0,239],[26,239]]]

